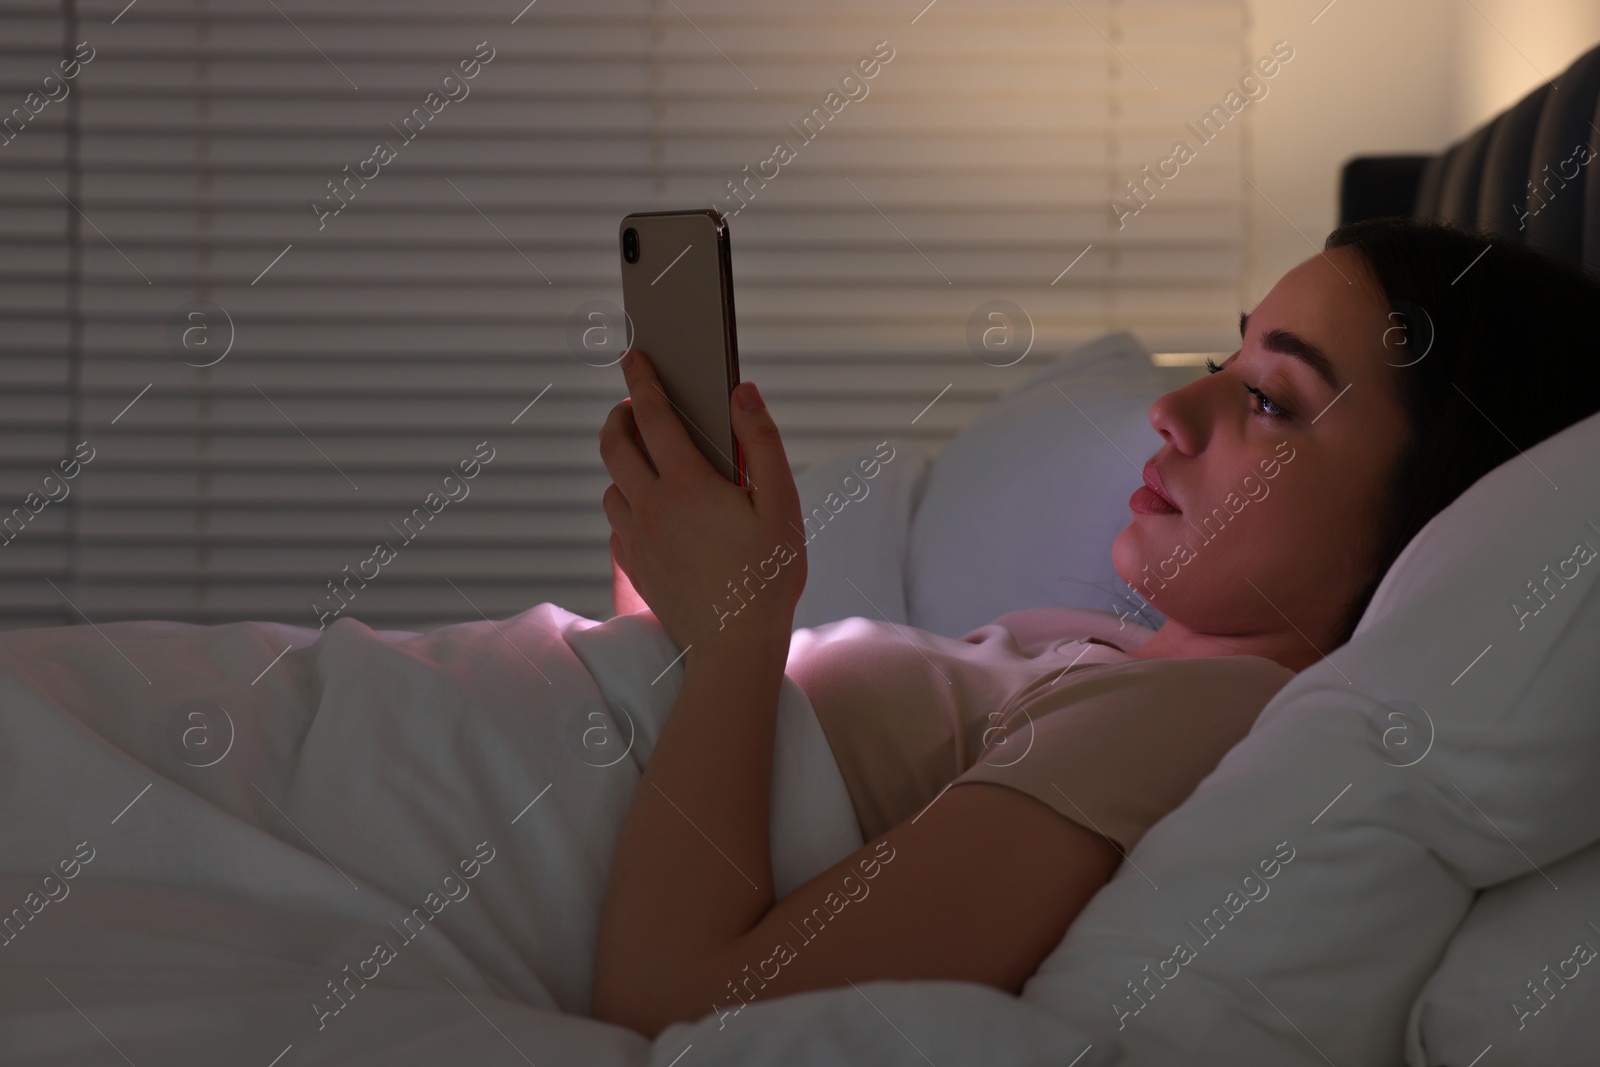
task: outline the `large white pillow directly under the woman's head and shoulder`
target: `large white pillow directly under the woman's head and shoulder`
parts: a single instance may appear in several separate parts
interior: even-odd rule
[[[1474,889],[1600,840],[1600,560],[1512,608],[1600,547],[1597,454],[1600,414],[1435,515],[1350,643],[1150,829],[1024,998],[1128,1062],[1400,1064]]]

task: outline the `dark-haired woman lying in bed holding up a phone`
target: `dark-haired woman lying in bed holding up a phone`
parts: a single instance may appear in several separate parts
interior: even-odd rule
[[[1112,545],[1165,613],[1158,630],[1048,608],[962,638],[850,619],[792,657],[805,536],[755,386],[733,394],[741,490],[648,360],[624,360],[630,398],[600,434],[618,609],[653,611],[686,653],[618,840],[595,1017],[653,1037],[846,982],[1019,992],[1139,837],[1349,638],[1411,536],[1600,410],[1600,283],[1440,227],[1336,230],[1240,334],[1150,406],[1162,445]],[[765,584],[725,617],[728,584],[765,560]],[[866,845],[779,901],[768,805],[786,665]]]

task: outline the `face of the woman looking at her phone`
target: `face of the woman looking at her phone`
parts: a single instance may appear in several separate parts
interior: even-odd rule
[[[1178,510],[1134,493],[1112,544],[1117,573],[1197,633],[1250,638],[1293,625],[1331,651],[1376,552],[1386,478],[1406,438],[1390,378],[1403,349],[1384,347],[1390,326],[1350,250],[1283,275],[1218,373],[1150,405],[1162,448],[1147,470]]]

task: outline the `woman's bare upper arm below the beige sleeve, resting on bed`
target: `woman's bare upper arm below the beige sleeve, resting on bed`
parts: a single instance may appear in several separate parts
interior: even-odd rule
[[[846,981],[949,979],[1018,993],[1122,856],[1014,789],[962,782],[806,881],[707,961],[707,1009]]]

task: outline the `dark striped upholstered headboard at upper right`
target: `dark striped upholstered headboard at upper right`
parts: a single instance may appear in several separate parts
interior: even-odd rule
[[[1438,155],[1368,155],[1339,222],[1408,214],[1501,234],[1600,272],[1600,48]]]

